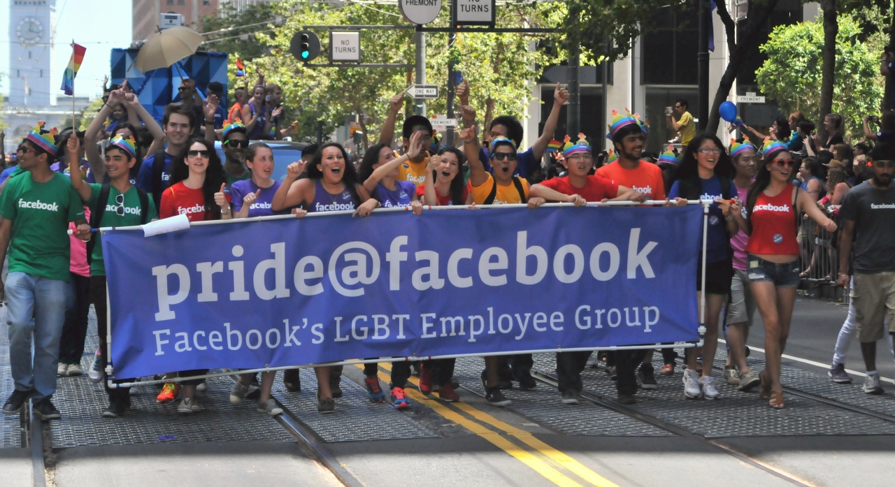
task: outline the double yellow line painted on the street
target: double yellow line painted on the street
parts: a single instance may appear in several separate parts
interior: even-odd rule
[[[362,367],[362,365],[357,366]],[[391,371],[391,364],[381,363],[379,366],[389,372]],[[386,383],[389,381],[388,375],[381,371],[379,371],[379,379]],[[411,377],[409,381],[417,387],[420,385],[419,380],[415,377]],[[413,389],[405,389],[405,393],[416,401],[425,400],[426,402],[423,404],[430,407],[440,416],[448,421],[460,424],[467,430],[482,437],[483,440],[489,441],[492,445],[506,451],[552,483],[563,487],[582,487],[582,483],[560,471],[565,470],[568,473],[575,474],[584,483],[589,483],[596,487],[618,487],[616,483],[609,482],[600,474],[578,463],[575,458],[571,458],[558,449],[554,449],[547,443],[538,440],[532,433],[506,424],[470,404],[463,402],[442,403],[439,400],[430,400],[419,391]],[[486,427],[486,425],[491,428]],[[500,432],[507,433],[507,435],[505,436]]]

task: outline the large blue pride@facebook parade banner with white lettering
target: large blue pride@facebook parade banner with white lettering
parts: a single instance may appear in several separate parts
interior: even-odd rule
[[[702,206],[103,234],[115,377],[699,340]]]

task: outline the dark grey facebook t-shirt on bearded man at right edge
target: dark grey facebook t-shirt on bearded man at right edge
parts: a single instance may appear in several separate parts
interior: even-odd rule
[[[876,189],[870,181],[848,191],[840,215],[855,222],[855,271],[895,271],[895,184]]]

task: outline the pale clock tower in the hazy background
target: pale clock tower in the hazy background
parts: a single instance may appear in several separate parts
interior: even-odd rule
[[[53,105],[62,82],[52,69],[55,0],[9,0],[9,6],[9,103]]]

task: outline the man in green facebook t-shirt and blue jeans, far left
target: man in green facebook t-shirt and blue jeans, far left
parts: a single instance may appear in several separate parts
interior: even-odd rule
[[[55,129],[48,132],[42,127],[40,122],[22,140],[16,150],[22,172],[7,181],[0,196],[0,262],[9,257],[9,274],[5,284],[0,284],[0,295],[5,291],[9,361],[15,382],[3,412],[16,414],[31,398],[38,416],[59,419],[59,410],[50,399],[56,388],[59,340],[65,321],[68,223],[78,223],[75,236],[81,239],[90,235],[90,227],[72,183],[50,169],[56,153]]]

